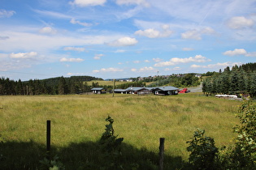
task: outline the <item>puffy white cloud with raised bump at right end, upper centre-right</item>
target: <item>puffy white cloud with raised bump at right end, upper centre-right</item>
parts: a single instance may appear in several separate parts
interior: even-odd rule
[[[161,37],[167,37],[167,36],[171,36],[171,34],[173,33],[170,29],[168,25],[163,25],[163,32],[159,32],[158,30],[155,30],[154,28],[150,28],[150,29],[145,29],[144,31],[139,30],[137,32],[135,32],[135,35],[139,35],[139,36],[146,36],[149,38],[161,38]]]

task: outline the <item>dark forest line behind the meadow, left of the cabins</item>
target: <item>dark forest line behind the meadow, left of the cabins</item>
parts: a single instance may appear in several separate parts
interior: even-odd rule
[[[85,81],[102,80],[91,76],[72,76],[70,78],[30,79],[22,82],[0,78],[0,95],[66,95],[89,92],[93,87]],[[94,84],[95,87],[95,84]]]

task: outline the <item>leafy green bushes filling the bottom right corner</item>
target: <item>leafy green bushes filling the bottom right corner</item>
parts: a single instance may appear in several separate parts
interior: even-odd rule
[[[256,168],[256,105],[243,101],[237,117],[241,125],[233,146],[219,149],[213,138],[204,137],[204,130],[197,130],[189,141],[189,163],[193,169],[255,169]]]

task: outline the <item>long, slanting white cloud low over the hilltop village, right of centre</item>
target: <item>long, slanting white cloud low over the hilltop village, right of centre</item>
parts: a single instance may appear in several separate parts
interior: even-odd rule
[[[203,57],[202,55],[196,55],[195,57],[172,57],[170,61],[167,62],[158,62],[154,66],[174,66],[179,63],[189,63],[189,62],[210,62],[211,60]]]

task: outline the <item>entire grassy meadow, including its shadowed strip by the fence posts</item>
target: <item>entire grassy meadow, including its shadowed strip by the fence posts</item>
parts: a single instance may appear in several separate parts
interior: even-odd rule
[[[110,115],[115,134],[124,138],[124,167],[140,169],[144,161],[156,168],[159,138],[166,138],[165,168],[180,169],[189,157],[186,141],[197,128],[215,138],[217,147],[234,143],[232,127],[238,124],[239,104],[202,93],[0,96],[0,164],[7,169],[39,168],[46,150],[46,121],[50,120],[52,155],[59,155],[66,169],[96,169],[95,164],[102,162],[97,141]]]

